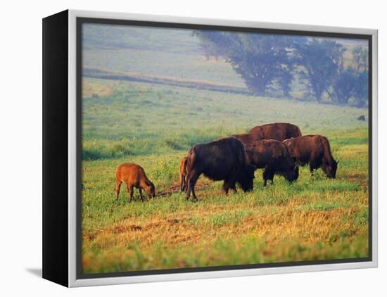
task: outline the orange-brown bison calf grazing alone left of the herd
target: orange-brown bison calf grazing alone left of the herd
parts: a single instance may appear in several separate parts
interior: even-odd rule
[[[146,177],[144,169],[141,166],[133,163],[125,163],[115,170],[115,197],[118,199],[120,195],[121,182],[127,185],[127,191],[129,192],[128,201],[130,202],[133,198],[133,187],[139,189],[141,201],[144,202],[142,196],[142,189],[146,191],[149,197],[155,197],[155,186]]]

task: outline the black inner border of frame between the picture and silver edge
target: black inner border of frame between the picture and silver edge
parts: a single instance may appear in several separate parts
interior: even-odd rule
[[[130,277],[138,275],[153,275],[153,274],[171,274],[184,272],[208,272],[220,270],[242,270],[265,267],[289,267],[300,265],[324,265],[336,263],[358,263],[372,261],[372,35],[370,34],[347,34],[333,32],[314,32],[304,30],[280,30],[280,29],[263,29],[252,27],[229,27],[218,25],[198,25],[190,23],[165,23],[151,22],[140,20],[116,20],[103,18],[77,18],[76,19],[76,34],[77,34],[77,53],[76,53],[76,71],[77,71],[77,279],[96,279],[101,277]],[[245,265],[224,265],[211,267],[194,267],[194,268],[173,268],[163,270],[136,270],[127,272],[106,272],[84,274],[82,272],[82,24],[106,24],[106,25],[131,25],[141,27],[164,27],[165,29],[190,29],[190,30],[220,30],[229,32],[245,32],[245,33],[263,33],[263,34],[286,34],[300,35],[310,37],[331,37],[343,39],[363,39],[368,41],[368,153],[369,153],[369,179],[368,179],[368,201],[369,201],[369,231],[368,231],[368,251],[369,256],[366,258],[345,258],[345,259],[328,259],[328,260],[310,260],[310,261],[295,261],[282,263],[259,263]]]

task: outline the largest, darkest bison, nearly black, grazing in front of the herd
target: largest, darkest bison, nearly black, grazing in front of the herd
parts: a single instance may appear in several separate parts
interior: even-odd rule
[[[193,200],[197,201],[195,184],[201,174],[212,180],[223,180],[227,194],[229,189],[236,191],[236,183],[243,191],[253,190],[254,171],[255,167],[246,160],[242,142],[234,137],[193,146],[187,160],[186,200],[192,192]]]

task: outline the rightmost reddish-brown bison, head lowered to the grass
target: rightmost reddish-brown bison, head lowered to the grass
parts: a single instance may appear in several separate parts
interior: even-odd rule
[[[299,165],[309,164],[310,174],[322,168],[327,177],[335,178],[338,162],[334,160],[328,139],[321,135],[305,135],[286,139],[288,152]]]

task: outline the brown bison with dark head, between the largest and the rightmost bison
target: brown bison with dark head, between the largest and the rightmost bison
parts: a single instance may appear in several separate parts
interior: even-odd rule
[[[260,140],[245,147],[248,162],[257,168],[265,168],[263,171],[264,187],[266,187],[267,180],[273,183],[275,174],[284,176],[289,182],[298,179],[298,165],[281,141]]]

